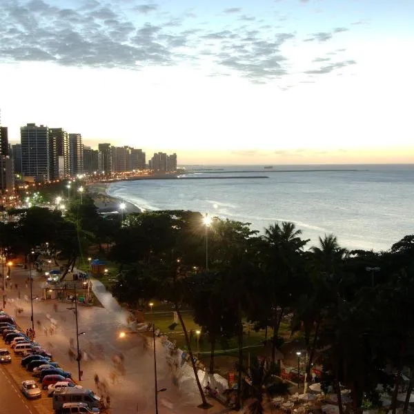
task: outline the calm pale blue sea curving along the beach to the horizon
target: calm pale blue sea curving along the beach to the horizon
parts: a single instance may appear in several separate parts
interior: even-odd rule
[[[333,233],[346,248],[387,250],[414,233],[414,164],[208,168],[225,172],[192,176],[241,178],[121,181],[108,194],[147,210],[194,210],[246,221],[261,232],[275,221],[293,221],[311,239],[309,246]],[[255,172],[241,172],[246,170]],[[268,178],[246,178],[253,175]]]

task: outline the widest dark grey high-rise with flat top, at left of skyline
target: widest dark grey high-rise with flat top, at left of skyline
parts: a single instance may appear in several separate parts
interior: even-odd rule
[[[49,128],[27,124],[20,128],[21,172],[35,181],[49,181]]]

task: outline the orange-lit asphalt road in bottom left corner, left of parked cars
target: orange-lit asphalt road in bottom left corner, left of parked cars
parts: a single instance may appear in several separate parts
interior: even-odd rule
[[[26,400],[12,376],[3,366],[0,366],[0,401],[1,413],[38,414],[32,402]]]

